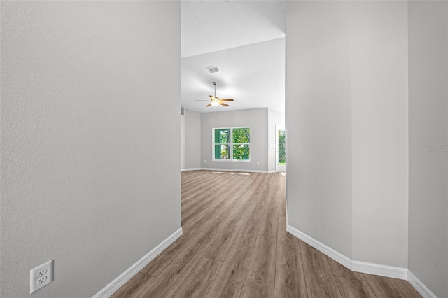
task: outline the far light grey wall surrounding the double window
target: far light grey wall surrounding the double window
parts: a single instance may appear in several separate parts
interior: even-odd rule
[[[251,127],[250,162],[212,160],[212,129],[219,127]],[[201,113],[202,168],[267,171],[267,149],[267,108]]]

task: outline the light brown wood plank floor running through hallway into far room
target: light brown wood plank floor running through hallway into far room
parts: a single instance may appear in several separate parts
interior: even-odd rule
[[[286,232],[282,173],[185,171],[183,236],[112,297],[421,297]]]

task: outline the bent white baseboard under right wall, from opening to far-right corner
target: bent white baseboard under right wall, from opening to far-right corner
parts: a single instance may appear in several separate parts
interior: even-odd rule
[[[339,264],[344,265],[351,271],[363,272],[366,274],[374,274],[392,278],[407,279],[407,273],[408,273],[407,268],[353,261],[349,257],[342,255],[342,253],[338,253],[336,250],[328,246],[325,246],[325,244],[317,241],[311,236],[308,236],[307,234],[300,232],[298,229],[295,229],[295,227],[286,225],[286,231],[290,232],[290,234],[293,234],[294,236],[304,241],[305,243],[308,243],[310,246],[316,248],[316,250],[319,250],[321,253],[328,255],[328,257],[331,257],[333,260],[335,260]]]

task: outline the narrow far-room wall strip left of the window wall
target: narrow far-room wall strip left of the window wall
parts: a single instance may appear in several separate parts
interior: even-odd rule
[[[185,169],[200,169],[201,167],[201,113],[184,109],[186,138]]]

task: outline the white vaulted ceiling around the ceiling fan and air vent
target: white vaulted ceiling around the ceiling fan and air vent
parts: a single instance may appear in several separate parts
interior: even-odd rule
[[[272,108],[284,113],[285,16],[281,1],[182,1],[181,101],[192,111],[214,94],[216,111]],[[221,72],[209,73],[217,65]]]

